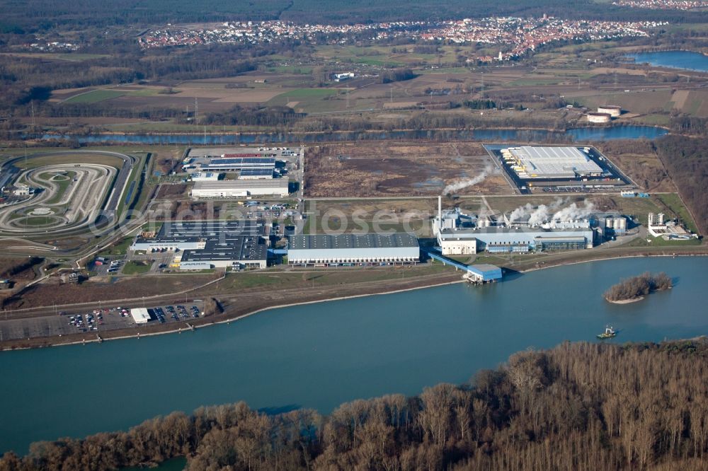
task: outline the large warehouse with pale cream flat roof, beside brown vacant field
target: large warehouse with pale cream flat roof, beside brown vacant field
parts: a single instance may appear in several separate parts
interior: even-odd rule
[[[521,146],[501,150],[501,156],[519,178],[583,178],[603,175],[603,169],[577,147]]]

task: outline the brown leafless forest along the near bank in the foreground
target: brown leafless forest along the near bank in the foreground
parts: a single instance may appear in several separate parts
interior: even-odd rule
[[[0,471],[108,470],[176,456],[188,470],[704,470],[708,343],[564,343],[465,385],[355,400],[328,416],[243,402],[127,432],[33,443]]]

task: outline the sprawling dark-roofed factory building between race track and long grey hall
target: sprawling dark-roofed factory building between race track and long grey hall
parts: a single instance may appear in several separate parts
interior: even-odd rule
[[[264,236],[268,228],[262,222],[168,222],[157,234],[138,236],[130,250],[173,251],[172,266],[180,269],[265,268],[268,243]]]

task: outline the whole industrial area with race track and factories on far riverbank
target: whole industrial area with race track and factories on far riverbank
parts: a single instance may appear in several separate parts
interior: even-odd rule
[[[218,299],[228,316],[331,297],[343,286],[374,292],[396,283],[481,284],[507,270],[700,244],[680,202],[638,190],[623,172],[638,175],[627,160],[634,157],[618,152],[622,165],[630,163],[623,167],[607,149],[365,141],[190,146],[150,158],[128,151],[16,156],[5,165],[17,169],[8,185],[17,194],[0,211],[7,230],[28,220],[37,226],[23,231],[23,242],[2,243],[57,252],[58,262],[50,269],[40,262],[34,277],[8,284],[5,312],[15,320],[0,320],[0,334],[43,342],[189,329],[216,319],[193,317],[195,298]],[[612,179],[617,183],[607,183]],[[122,219],[129,208],[139,216]],[[81,224],[97,218],[105,228],[117,223],[120,233],[99,233],[91,244]],[[81,249],[68,252],[71,243]],[[305,296],[307,287],[316,293]],[[258,297],[245,302],[234,290]],[[103,323],[87,325],[84,310],[105,309],[99,300],[141,314],[102,311]],[[185,306],[189,320],[175,306]]]

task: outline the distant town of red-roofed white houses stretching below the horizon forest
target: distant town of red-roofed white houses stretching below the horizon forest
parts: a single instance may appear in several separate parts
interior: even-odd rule
[[[297,39],[312,44],[346,44],[352,40],[386,40],[410,37],[455,44],[503,44],[499,59],[520,57],[537,47],[559,41],[588,41],[647,37],[653,28],[667,23],[656,21],[578,21],[542,18],[493,17],[459,21],[399,21],[355,25],[300,25],[286,21],[241,21],[189,27],[167,25],[139,37],[144,48],[224,44],[250,44]]]

